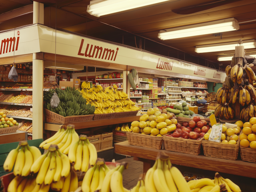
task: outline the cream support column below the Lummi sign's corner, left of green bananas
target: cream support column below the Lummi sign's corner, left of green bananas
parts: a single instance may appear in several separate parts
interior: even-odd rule
[[[33,139],[43,138],[44,61],[33,53]]]

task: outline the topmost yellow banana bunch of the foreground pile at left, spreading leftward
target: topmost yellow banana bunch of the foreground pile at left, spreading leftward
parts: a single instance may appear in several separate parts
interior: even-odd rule
[[[43,141],[39,147],[42,149],[49,149],[50,145],[57,145],[61,153],[68,155],[70,145],[79,140],[79,136],[75,131],[74,125],[61,125],[60,129],[49,139]]]

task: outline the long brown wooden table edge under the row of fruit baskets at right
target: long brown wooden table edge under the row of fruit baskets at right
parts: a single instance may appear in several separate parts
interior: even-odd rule
[[[146,147],[129,145],[128,141],[115,143],[114,150],[114,152],[117,154],[133,156],[134,160],[144,162],[144,172],[146,172],[151,167],[150,164],[156,160],[156,156],[160,151],[162,151],[169,156],[172,164],[256,178],[256,163],[250,163],[240,159],[233,161],[229,159],[206,157],[204,156],[204,153],[201,153],[200,155],[190,155],[185,153],[166,151],[165,149],[150,149]]]

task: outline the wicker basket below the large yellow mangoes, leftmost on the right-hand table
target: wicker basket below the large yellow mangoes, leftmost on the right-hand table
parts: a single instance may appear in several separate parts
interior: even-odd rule
[[[133,132],[126,132],[126,135],[130,145],[147,147],[151,149],[162,149],[164,135],[162,137],[154,137]]]

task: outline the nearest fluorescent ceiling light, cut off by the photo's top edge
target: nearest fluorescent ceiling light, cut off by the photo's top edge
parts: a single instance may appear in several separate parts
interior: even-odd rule
[[[165,1],[170,0],[92,0],[87,7],[87,12],[90,15],[100,17]]]

